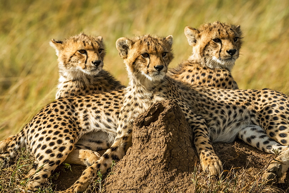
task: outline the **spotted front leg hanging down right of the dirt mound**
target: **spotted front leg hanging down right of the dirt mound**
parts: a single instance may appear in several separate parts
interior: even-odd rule
[[[203,170],[209,172],[210,176],[220,175],[223,168],[222,162],[213,150],[205,120],[192,112],[186,116],[186,119],[193,129],[194,144]]]

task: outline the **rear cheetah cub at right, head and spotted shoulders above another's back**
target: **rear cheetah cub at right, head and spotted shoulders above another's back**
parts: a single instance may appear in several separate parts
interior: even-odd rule
[[[185,35],[192,55],[170,70],[171,77],[189,84],[238,89],[231,69],[242,46],[240,25],[215,21],[198,29],[187,26]]]

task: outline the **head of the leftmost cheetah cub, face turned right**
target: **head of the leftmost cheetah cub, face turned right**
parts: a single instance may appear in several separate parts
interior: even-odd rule
[[[52,39],[60,73],[70,78],[97,75],[103,67],[105,46],[101,36],[81,33],[64,40]]]

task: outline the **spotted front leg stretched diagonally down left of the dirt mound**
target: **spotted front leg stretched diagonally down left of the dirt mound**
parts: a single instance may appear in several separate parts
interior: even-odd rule
[[[130,124],[130,123],[129,123]],[[119,124],[118,124],[119,125]],[[97,177],[97,171],[105,174],[112,164],[112,160],[119,161],[125,155],[126,150],[131,145],[132,125],[120,124],[123,127],[117,129],[116,139],[112,146],[94,164],[86,168],[81,177],[67,190],[63,192],[84,192],[90,184],[91,177]],[[120,132],[118,132],[120,131]]]

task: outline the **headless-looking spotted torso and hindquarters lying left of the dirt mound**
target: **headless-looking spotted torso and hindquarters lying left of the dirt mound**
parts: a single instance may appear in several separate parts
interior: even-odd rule
[[[91,166],[116,136],[124,90],[61,98],[44,107],[0,149],[0,167],[13,164],[26,147],[35,158],[24,189],[36,191],[62,162]],[[1,146],[0,146],[1,147]],[[36,172],[38,171],[38,172]]]

